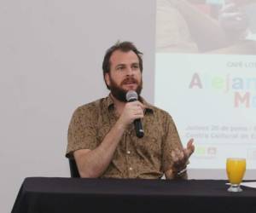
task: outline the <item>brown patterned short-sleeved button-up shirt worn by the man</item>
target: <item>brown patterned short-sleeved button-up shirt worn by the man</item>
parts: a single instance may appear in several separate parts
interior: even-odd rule
[[[149,105],[143,98],[141,102],[146,107],[142,119],[143,138],[137,138],[131,124],[102,177],[160,178],[172,165],[171,150],[176,147],[182,149],[172,117]],[[68,129],[67,158],[73,158],[76,150],[93,150],[99,146],[117,120],[109,95],[79,107],[73,113]]]

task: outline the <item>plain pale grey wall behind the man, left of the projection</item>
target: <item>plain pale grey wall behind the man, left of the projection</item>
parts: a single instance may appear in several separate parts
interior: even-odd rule
[[[154,0],[0,1],[0,212],[26,176],[69,176],[69,120],[108,94],[102,58],[118,39],[144,52],[154,101],[154,10]]]

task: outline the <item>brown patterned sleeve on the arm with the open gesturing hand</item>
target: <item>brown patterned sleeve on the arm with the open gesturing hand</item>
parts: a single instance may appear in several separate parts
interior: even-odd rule
[[[166,118],[164,118],[164,120],[166,134],[162,141],[162,170],[165,172],[166,170],[172,169],[172,150],[177,148],[182,151],[183,145],[180,141],[177,128],[172,117],[166,113]]]

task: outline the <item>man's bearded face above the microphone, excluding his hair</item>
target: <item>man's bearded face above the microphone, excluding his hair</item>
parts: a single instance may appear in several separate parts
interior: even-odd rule
[[[142,72],[137,55],[133,51],[116,50],[110,57],[110,72],[105,74],[111,94],[119,101],[125,102],[127,91],[137,91],[143,87]]]

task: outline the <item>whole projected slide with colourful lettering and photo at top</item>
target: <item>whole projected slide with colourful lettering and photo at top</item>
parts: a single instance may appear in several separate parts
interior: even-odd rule
[[[157,0],[155,105],[170,112],[190,168],[256,169],[256,3]]]

